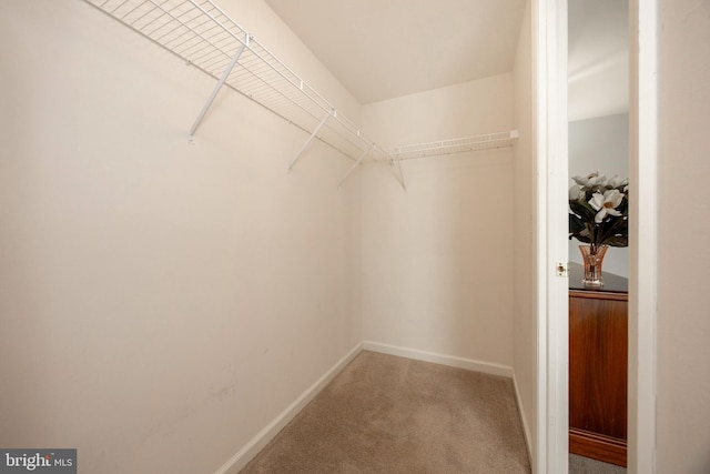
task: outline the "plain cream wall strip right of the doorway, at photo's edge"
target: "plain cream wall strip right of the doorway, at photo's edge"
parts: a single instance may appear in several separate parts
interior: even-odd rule
[[[710,3],[659,2],[657,472],[710,472]],[[641,236],[642,238],[642,236]]]

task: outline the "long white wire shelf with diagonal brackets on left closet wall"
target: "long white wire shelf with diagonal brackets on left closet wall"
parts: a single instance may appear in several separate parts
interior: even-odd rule
[[[219,80],[190,135],[224,84],[311,134],[291,167],[314,138],[357,163],[366,154],[393,162],[212,0],[84,1]]]

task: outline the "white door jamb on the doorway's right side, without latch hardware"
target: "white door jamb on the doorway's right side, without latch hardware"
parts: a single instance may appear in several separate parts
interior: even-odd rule
[[[656,473],[657,4],[629,1],[628,471]]]

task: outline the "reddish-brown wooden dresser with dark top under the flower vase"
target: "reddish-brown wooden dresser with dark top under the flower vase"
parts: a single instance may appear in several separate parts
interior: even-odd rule
[[[569,266],[569,452],[626,467],[628,282],[586,289]]]

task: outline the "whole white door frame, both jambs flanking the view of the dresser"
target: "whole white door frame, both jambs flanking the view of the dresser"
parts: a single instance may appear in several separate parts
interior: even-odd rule
[[[531,0],[537,153],[537,474],[568,472],[567,0]],[[656,473],[657,6],[630,0],[628,471]],[[560,211],[561,208],[561,211]],[[642,238],[641,238],[642,236]]]

